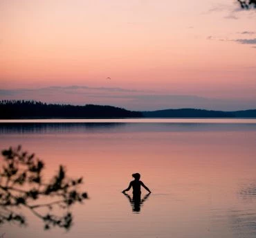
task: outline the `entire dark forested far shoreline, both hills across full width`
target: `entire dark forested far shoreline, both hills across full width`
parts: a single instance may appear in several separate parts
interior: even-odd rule
[[[29,118],[256,118],[256,109],[244,111],[205,109],[129,111],[119,107],[93,104],[75,106],[25,100],[0,101],[0,119]]]

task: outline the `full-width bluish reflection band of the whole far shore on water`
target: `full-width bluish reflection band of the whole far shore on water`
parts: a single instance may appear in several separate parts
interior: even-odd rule
[[[1,122],[0,134],[83,134],[87,132],[256,131],[256,124],[196,122]]]

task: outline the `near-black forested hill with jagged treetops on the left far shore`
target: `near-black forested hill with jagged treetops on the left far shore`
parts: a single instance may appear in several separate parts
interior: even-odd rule
[[[86,104],[46,104],[37,101],[2,100],[0,118],[138,118],[142,113],[126,109]]]

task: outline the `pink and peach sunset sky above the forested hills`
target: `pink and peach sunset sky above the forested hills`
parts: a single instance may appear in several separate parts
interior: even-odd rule
[[[0,100],[255,109],[255,18],[235,0],[1,0]]]

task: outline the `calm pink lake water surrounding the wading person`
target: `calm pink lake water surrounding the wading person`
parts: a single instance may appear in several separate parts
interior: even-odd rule
[[[84,176],[90,199],[68,232],[22,210],[28,227],[6,223],[6,238],[256,237],[256,120],[2,121],[1,149],[19,144],[45,179],[60,164]],[[121,193],[134,172],[152,190],[140,212]]]

